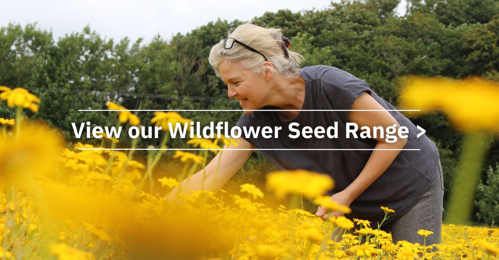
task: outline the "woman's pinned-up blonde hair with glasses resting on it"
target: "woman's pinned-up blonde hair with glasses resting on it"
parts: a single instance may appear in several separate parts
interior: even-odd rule
[[[299,67],[301,61],[303,61],[303,56],[287,49],[289,57],[284,57],[282,32],[279,28],[263,28],[246,23],[239,25],[229,34],[229,37],[235,38],[265,55],[273,66],[273,68],[270,66],[267,66],[267,68],[273,70],[274,73],[286,78],[297,78],[299,76]],[[250,69],[255,74],[264,69],[261,66],[264,62],[262,55],[250,51],[236,42],[230,49],[225,48],[224,41],[215,44],[210,51],[209,61],[218,77],[221,77],[219,65],[223,61],[226,64],[229,63],[244,69]]]

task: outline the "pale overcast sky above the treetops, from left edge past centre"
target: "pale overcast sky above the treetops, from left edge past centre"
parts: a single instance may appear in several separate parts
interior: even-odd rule
[[[85,25],[100,36],[149,42],[185,34],[217,18],[248,21],[265,11],[324,9],[330,0],[0,0],[0,25],[9,22],[52,30],[55,39]]]

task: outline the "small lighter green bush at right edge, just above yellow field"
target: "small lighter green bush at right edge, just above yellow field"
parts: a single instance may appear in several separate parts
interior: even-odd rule
[[[477,188],[475,205],[477,206],[477,219],[486,224],[499,222],[499,164],[496,169],[489,166],[485,183],[480,183]]]

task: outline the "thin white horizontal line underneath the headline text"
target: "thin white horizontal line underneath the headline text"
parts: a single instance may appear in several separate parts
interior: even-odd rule
[[[203,148],[79,148],[78,150],[109,150],[109,151],[129,151],[129,150],[161,150],[161,151],[421,151],[421,149],[327,149],[327,148],[310,148],[310,149],[238,149],[238,148],[216,148],[216,149],[203,149]]]

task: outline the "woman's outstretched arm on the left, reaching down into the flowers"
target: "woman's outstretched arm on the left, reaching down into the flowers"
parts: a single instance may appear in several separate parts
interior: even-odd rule
[[[254,146],[243,138],[239,139],[238,146],[224,146],[213,160],[201,171],[182,181],[164,199],[175,201],[179,194],[189,191],[216,192],[226,184],[234,174],[243,167],[250,158],[252,150],[226,150],[226,149],[254,149]],[[218,171],[217,171],[218,169]]]

